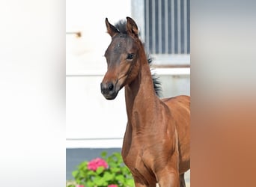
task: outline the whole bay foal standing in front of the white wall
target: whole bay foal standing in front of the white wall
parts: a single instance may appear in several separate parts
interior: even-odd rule
[[[112,42],[105,53],[108,70],[101,92],[106,99],[115,99],[125,87],[128,122],[122,156],[135,186],[185,186],[184,173],[190,168],[190,97],[156,96],[138,27],[131,18],[118,28],[106,19],[106,28]]]

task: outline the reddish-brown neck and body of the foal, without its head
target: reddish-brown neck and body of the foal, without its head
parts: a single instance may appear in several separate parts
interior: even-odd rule
[[[150,73],[149,67],[143,70]],[[160,183],[164,174],[177,177],[177,171],[183,174],[189,169],[190,112],[189,96],[160,100],[149,86],[152,80],[144,80],[148,76],[143,74],[125,87],[128,122],[122,156],[135,181],[150,186]],[[140,79],[143,84],[137,84]],[[169,180],[162,186],[167,184]]]

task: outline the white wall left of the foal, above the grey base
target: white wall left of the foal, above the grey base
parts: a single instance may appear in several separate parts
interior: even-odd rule
[[[105,19],[115,24],[130,15],[127,0],[66,1],[66,32],[82,32],[82,37],[66,37],[67,147],[121,147],[127,123],[124,91],[108,101],[100,93],[100,82],[111,40]]]

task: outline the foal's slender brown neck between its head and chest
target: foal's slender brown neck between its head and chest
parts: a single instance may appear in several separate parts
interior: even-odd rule
[[[153,80],[146,55],[141,59],[141,67],[135,80],[125,87],[127,117],[129,123],[138,127],[148,124],[156,114],[156,105],[159,101],[153,88]],[[140,119],[138,120],[138,116]],[[135,129],[135,128],[133,128]]]

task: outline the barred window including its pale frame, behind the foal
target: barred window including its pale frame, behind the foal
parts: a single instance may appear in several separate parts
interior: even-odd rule
[[[190,64],[190,0],[133,0],[145,49],[158,65]]]

